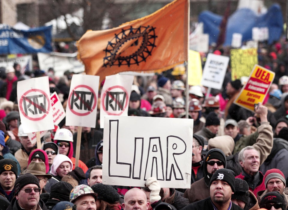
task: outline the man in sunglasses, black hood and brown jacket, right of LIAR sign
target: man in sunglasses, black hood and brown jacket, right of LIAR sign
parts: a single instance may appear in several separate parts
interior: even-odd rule
[[[203,200],[210,196],[209,182],[212,175],[221,168],[226,168],[226,157],[222,150],[211,149],[205,156],[203,173],[204,177],[191,184],[190,189],[184,192],[184,198],[190,203]],[[201,192],[201,193],[199,193]]]

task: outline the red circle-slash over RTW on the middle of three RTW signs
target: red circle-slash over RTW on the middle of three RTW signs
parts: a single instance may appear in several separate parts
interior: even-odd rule
[[[78,85],[68,97],[68,107],[71,112],[78,116],[89,115],[96,107],[96,94],[87,85]]]

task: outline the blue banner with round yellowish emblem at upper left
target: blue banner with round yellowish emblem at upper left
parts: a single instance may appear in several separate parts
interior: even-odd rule
[[[0,54],[49,53],[52,51],[52,25],[16,30],[0,25]]]

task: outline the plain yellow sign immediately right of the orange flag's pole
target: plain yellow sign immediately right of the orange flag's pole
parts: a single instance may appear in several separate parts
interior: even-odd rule
[[[202,78],[202,64],[200,53],[189,50],[188,52],[188,84],[200,85]]]

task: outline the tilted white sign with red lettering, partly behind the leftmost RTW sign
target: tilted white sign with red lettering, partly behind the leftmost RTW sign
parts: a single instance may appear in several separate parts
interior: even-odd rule
[[[54,125],[58,125],[64,119],[66,113],[56,92],[50,95],[50,100],[53,111],[53,122]]]

